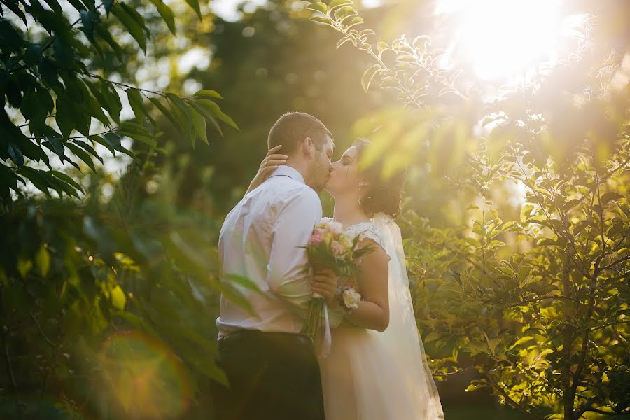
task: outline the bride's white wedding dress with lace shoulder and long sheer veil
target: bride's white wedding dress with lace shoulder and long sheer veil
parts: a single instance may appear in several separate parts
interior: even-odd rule
[[[409,293],[400,228],[391,217],[346,229],[373,239],[389,255],[390,321],[385,332],[342,323],[332,330],[326,358],[319,358],[326,420],[444,419]]]

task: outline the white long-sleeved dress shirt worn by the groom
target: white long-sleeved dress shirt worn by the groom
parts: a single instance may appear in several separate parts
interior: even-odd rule
[[[218,243],[223,272],[251,279],[262,294],[236,286],[252,313],[221,296],[219,339],[236,330],[300,332],[311,285],[303,273],[307,254],[299,247],[320,219],[317,193],[288,166],[276,169],[230,211]]]

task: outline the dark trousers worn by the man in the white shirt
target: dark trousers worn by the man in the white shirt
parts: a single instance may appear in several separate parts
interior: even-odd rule
[[[303,335],[243,330],[218,343],[230,388],[215,392],[220,420],[323,420],[319,365]]]

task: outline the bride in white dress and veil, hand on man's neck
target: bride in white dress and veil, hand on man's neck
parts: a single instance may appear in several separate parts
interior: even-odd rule
[[[380,165],[360,169],[368,146],[360,139],[348,148],[332,163],[325,186],[335,199],[332,221],[346,235],[377,245],[360,262],[363,300],[332,330],[330,354],[319,358],[325,418],[444,419],[416,327],[400,228],[392,218],[400,209],[403,174],[384,181]],[[278,150],[269,151],[249,190],[283,163]]]

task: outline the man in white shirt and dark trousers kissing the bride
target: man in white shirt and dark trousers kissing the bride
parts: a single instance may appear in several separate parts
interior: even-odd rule
[[[288,155],[225,218],[218,253],[225,276],[251,279],[262,293],[239,288],[251,311],[221,296],[219,365],[230,389],[216,396],[218,419],[323,420],[321,379],[311,339],[299,332],[311,299],[301,246],[321,219],[317,195],[330,174],[332,135],[307,113],[283,115],[269,149]],[[314,276],[332,300],[336,279]]]

